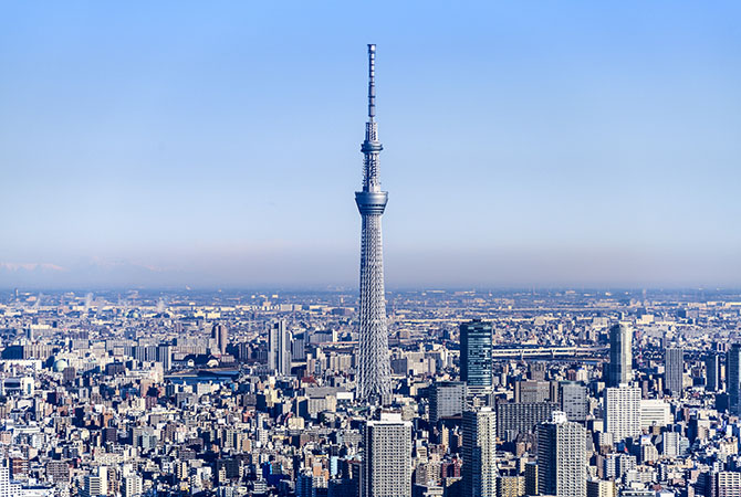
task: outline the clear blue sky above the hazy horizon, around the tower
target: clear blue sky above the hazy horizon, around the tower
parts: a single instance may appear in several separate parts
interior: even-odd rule
[[[389,287],[741,286],[740,14],[3,2],[0,287],[356,285],[366,43]]]

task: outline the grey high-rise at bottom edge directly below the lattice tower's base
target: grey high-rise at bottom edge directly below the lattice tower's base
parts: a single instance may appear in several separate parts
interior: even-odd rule
[[[411,422],[382,413],[363,430],[361,497],[411,496]]]

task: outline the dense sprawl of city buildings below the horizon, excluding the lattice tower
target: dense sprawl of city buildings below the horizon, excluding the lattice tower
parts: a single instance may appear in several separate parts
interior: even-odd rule
[[[2,294],[0,495],[737,496],[741,295]]]

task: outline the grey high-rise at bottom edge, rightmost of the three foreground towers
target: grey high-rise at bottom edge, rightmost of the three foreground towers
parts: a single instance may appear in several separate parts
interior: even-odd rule
[[[540,495],[586,497],[586,429],[563,412],[538,426]]]

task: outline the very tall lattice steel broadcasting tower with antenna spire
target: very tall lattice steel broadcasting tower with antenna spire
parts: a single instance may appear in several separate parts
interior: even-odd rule
[[[361,242],[361,332],[356,398],[383,403],[392,392],[386,328],[384,289],[384,248],[380,237],[380,216],[386,209],[388,192],[378,182],[378,141],[376,117],[376,45],[368,45],[368,121],[361,151],[363,191],[355,192],[355,202],[363,218]]]

